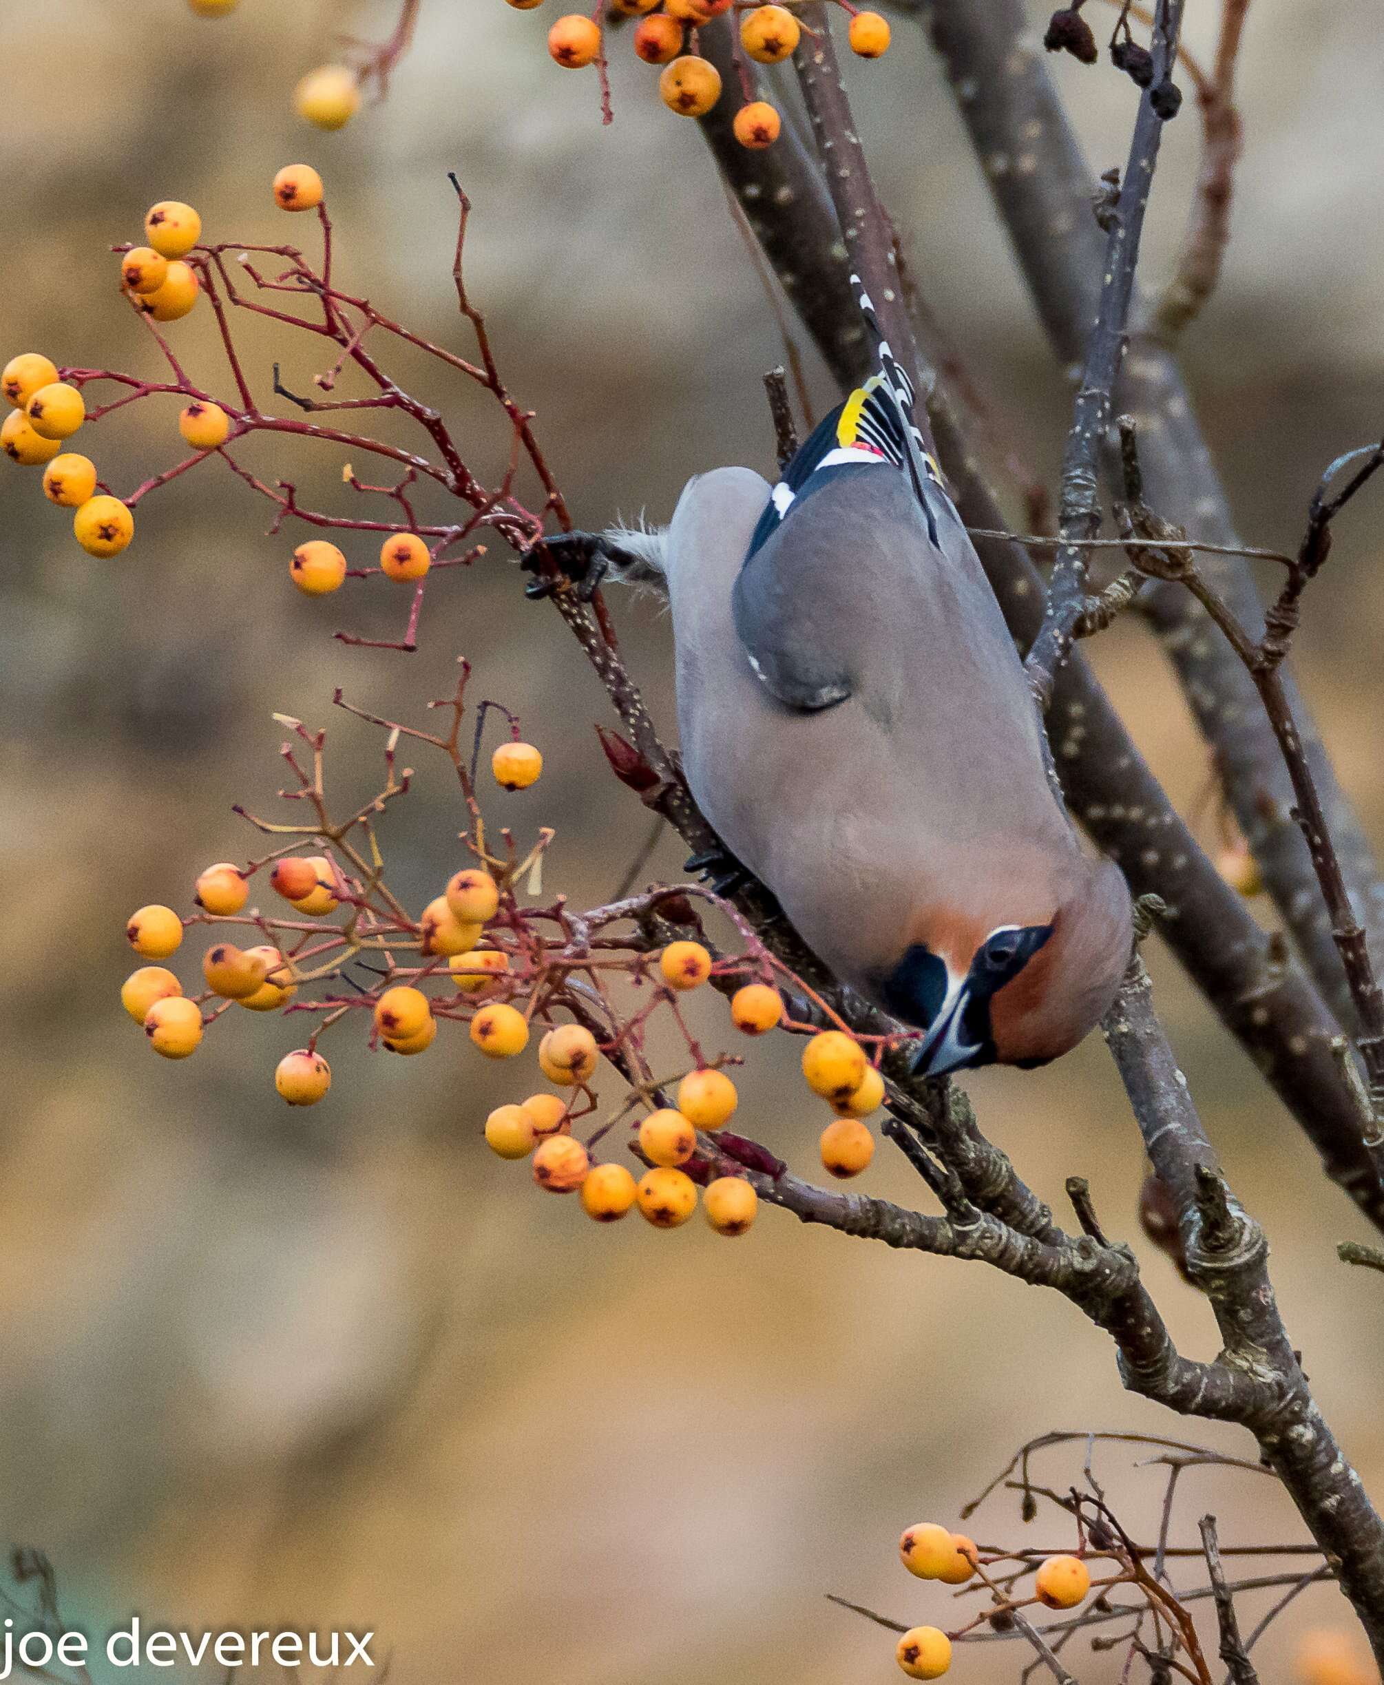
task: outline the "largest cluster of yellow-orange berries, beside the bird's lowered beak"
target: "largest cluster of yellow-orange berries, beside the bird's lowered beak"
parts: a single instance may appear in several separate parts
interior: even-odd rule
[[[509,736],[491,753],[501,790],[529,789],[543,757],[521,740],[507,709],[485,701],[467,762],[460,740],[467,679],[464,664],[455,694],[432,704],[450,714],[445,733],[369,714],[337,696],[339,706],[388,733],[383,789],[344,819],[327,804],[325,733],[280,716],[292,733],[282,753],[293,773],[280,794],[307,804],[307,817],[280,822],[239,809],[275,848],[244,864],[207,866],[192,885],[194,912],[155,903],[126,922],[130,947],[152,964],[126,977],[121,1001],[150,1046],[170,1060],[187,1058],[236,1008],[308,1014],[312,1033],[283,1053],[273,1080],[290,1105],[315,1105],[332,1085],[320,1041],[335,1024],[362,1024],[371,1048],[405,1056],[426,1053],[443,1026],[465,1024],[485,1058],[519,1060],[533,1048],[534,1075],[551,1085],[485,1119],[485,1141],[499,1158],[531,1158],[539,1188],[580,1193],[582,1208],[600,1223],[637,1206],[652,1227],[678,1228],[700,1200],[716,1233],[742,1235],[759,1206],[750,1169],[767,1163],[762,1147],[727,1132],[738,1094],[725,1067],[742,1058],[708,1058],[681,1009],[686,996],[713,984],[727,994],[730,1023],[742,1035],[779,1028],[807,1035],[802,1075],[840,1114],[823,1136],[823,1163],[836,1176],[861,1171],[873,1153],[861,1119],[883,1099],[883,1082],[860,1041],[841,1030],[809,1033],[791,1018],[784,991],[794,998],[806,986],[747,927],[738,927],[745,952],[730,957],[715,957],[689,937],[657,940],[654,917],[666,923],[676,913],[695,923],[688,893],[720,905],[715,896],[661,890],[580,915],[561,898],[533,905],[553,832],[539,829],[521,856],[507,827],[497,841],[487,829],[477,782],[487,713],[509,719]],[[472,864],[416,912],[391,891],[378,837],[379,816],[413,778],[411,768],[396,765],[405,738],[450,760],[470,821],[462,842]],[[258,886],[268,891],[266,903],[251,900]],[[212,927],[212,940],[201,955],[197,989],[184,992],[162,962],[199,927]],[[644,1051],[656,1019],[671,1021],[688,1055],[686,1067],[666,1077],[652,1073]],[[597,1092],[602,1063],[619,1082],[614,1107]],[[630,1149],[642,1164],[639,1180],[624,1163],[597,1158],[602,1141]]]

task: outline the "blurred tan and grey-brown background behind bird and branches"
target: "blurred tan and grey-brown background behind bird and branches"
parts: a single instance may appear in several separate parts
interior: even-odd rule
[[[617,45],[617,121],[602,130],[592,76],[544,54],[553,5],[425,0],[384,106],[341,135],[298,125],[292,84],[332,56],[332,32],[384,35],[393,10],[244,0],[207,24],[182,0],[3,7],[3,354],[152,372],[106,248],[137,238],[160,197],[196,202],[209,238],[283,239],[268,182],[298,158],[327,177],[342,275],[467,349],[448,275],[455,168],[475,202],[472,286],[580,522],[666,517],[684,477],[720,462],[767,468],[772,317],[705,148],[647,69]],[[1190,8],[1194,44],[1209,44],[1215,10]],[[1187,356],[1253,543],[1291,543],[1322,465],[1381,426],[1376,25],[1371,0],[1251,12],[1234,243]],[[1096,167],[1123,158],[1129,84],[1055,69]],[[900,24],[890,56],[851,79],[919,280],[1052,482],[1067,389],[919,34]],[[1150,278],[1182,229],[1190,113],[1160,172]],[[295,222],[290,238],[308,233]],[[207,325],[201,307],[172,334],[219,382]],[[261,391],[275,356],[298,389],[320,366],[292,335],[249,332],[246,347]],[[492,472],[504,440],[484,406],[426,389]],[[821,371],[814,391],[824,406]],[[83,448],[128,489],[175,460],[174,415],[148,403]],[[341,453],[285,445],[255,460],[305,495],[341,497]],[[37,470],[5,463],[0,499],[0,1518],[51,1552],[71,1619],[99,1628],[138,1607],[150,1623],[374,1628],[396,1685],[883,1682],[897,1677],[887,1634],[823,1592],[932,1619],[936,1587],[895,1560],[905,1523],[952,1518],[1043,1429],[1180,1431],[1121,1392],[1108,1343],[1074,1311],[984,1269],[772,1212],[733,1247],[700,1220],[673,1235],[637,1217],[593,1230],[480,1141],[487,1107],[518,1097],[516,1082],[529,1092],[536,1068],[480,1068],[459,1041],[391,1062],[339,1033],[334,1092],[298,1114],[270,1080],[300,1036],[292,1019],[236,1014],[194,1060],[152,1058],[116,1001],[123,920],[148,900],[187,907],[201,866],[253,849],[229,805],[271,804],[273,709],[332,726],[346,800],[374,778],[378,740],[329,719],[332,686],[416,718],[464,652],[477,694],[518,708],[548,755],[538,790],[491,804],[521,834],[558,827],[548,888],[605,898],[646,816],[602,773],[593,677],[499,554],[438,578],[410,659],[330,640],[339,625],[396,635],[405,593],[364,581],[300,600],[288,541],[263,536],[266,507],[217,463],[147,502],[110,563],[74,546]],[[1376,534],[1372,509],[1344,524],[1300,676],[1384,841]],[[671,719],[668,627],[647,603],[615,607]],[[1156,650],[1131,623],[1096,659],[1188,805],[1204,752]],[[411,758],[416,794],[384,837],[396,888],[421,903],[453,869],[462,821],[445,767]],[[679,866],[664,842],[651,875]],[[1384,1296],[1333,1259],[1354,1213],[1167,964],[1158,982],[1234,1181],[1269,1225],[1322,1405],[1384,1495]],[[791,1051],[755,1051],[742,1115],[811,1169],[821,1121],[789,1080]],[[1038,1075],[968,1087],[1047,1198],[1082,1173],[1106,1227],[1133,1230],[1141,1161],[1099,1038]],[[920,1193],[883,1151],[865,1186]],[[1187,1350],[1210,1355],[1195,1296],[1156,1255],[1148,1276]],[[1232,1434],[1192,1437],[1242,1449]],[[1150,1528],[1156,1473],[1106,1468],[1126,1520]],[[1185,1537],[1207,1505],[1232,1542],[1298,1537],[1268,1481],[1187,1488]],[[976,1532],[1013,1538],[1013,1506]],[[1313,1596],[1303,1621],[1347,1621],[1333,1592]],[[1266,1646],[1269,1682],[1286,1677],[1290,1624]],[[1082,1678],[1113,1668],[1074,1656]],[[988,1648],[958,1675],[1020,1665]]]

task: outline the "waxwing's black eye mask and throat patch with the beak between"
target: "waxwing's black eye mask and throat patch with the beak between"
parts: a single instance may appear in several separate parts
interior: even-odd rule
[[[885,1006],[925,1030],[917,1068],[941,1077],[995,1063],[990,1003],[1052,935],[1052,925],[1001,925],[976,950],[971,969],[952,986],[947,967],[925,942],[914,942],[880,987]]]

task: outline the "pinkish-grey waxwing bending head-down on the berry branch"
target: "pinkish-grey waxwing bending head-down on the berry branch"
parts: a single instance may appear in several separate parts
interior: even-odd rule
[[[919,1067],[1076,1046],[1129,960],[1129,895],[1054,795],[1022,662],[888,347],[779,485],[703,473],[666,531],[619,529],[603,551],[666,576],[683,767],[708,821],[843,982],[924,1031]]]

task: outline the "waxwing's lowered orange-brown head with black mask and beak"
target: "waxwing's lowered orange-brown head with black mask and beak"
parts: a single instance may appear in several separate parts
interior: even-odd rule
[[[888,1009],[925,1031],[931,1077],[978,1065],[1032,1068],[1067,1053],[1106,1013],[1129,962],[1129,891],[1111,861],[1005,922],[925,917],[880,986]],[[984,928],[984,925],[990,925]]]

